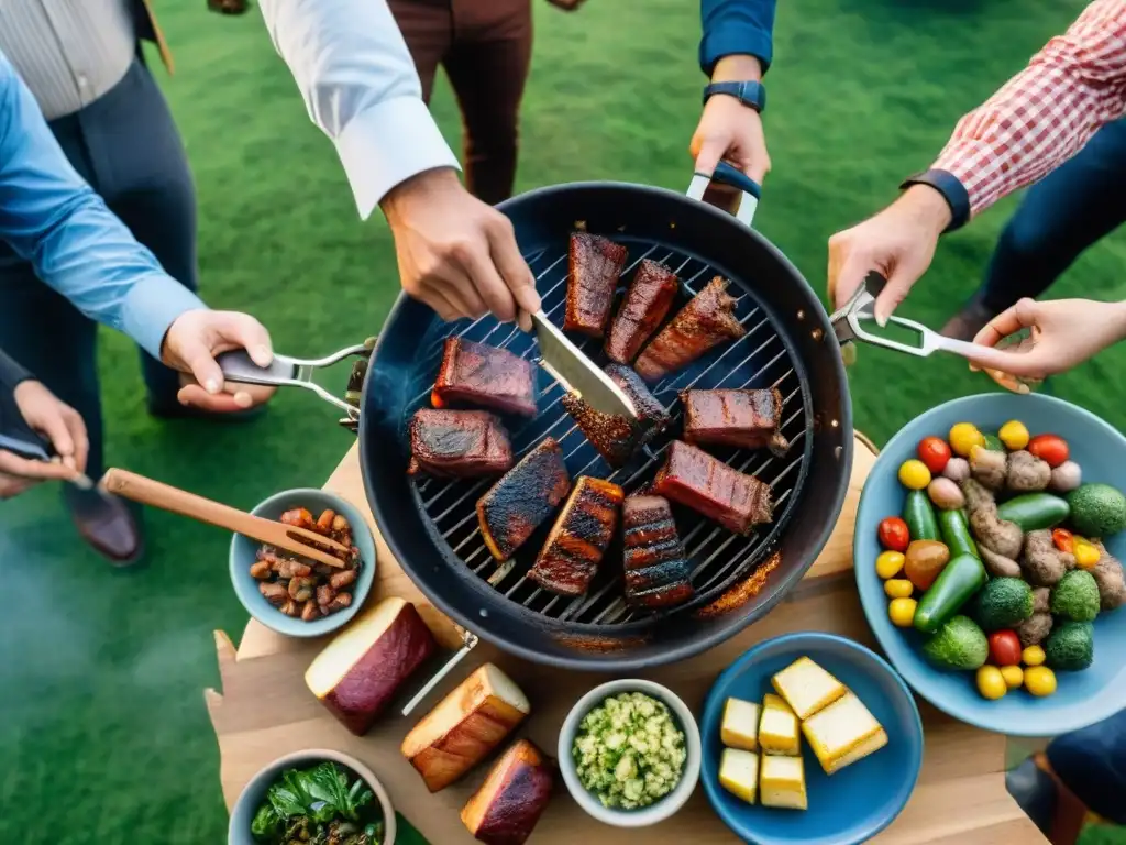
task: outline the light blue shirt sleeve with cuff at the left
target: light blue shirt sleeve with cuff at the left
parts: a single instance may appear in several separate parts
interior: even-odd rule
[[[206,308],[74,171],[2,53],[0,239],[83,314],[128,335],[158,359],[176,318]]]

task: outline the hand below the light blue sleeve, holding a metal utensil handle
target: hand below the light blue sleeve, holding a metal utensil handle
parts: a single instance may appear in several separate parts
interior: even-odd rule
[[[249,314],[199,309],[180,314],[168,329],[161,358],[168,366],[190,374],[177,398],[213,413],[243,411],[274,395],[274,388],[226,384],[215,356],[245,349],[258,366],[269,366],[274,349],[266,328]]]

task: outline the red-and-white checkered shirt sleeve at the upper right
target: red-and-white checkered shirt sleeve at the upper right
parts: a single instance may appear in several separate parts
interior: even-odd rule
[[[972,214],[1043,179],[1126,113],[1126,0],[1097,0],[1028,66],[960,121],[932,167]]]

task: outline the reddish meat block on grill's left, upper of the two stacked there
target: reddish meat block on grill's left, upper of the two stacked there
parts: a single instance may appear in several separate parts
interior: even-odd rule
[[[535,417],[536,368],[508,349],[446,338],[430,401],[435,408],[470,402],[502,413]]]

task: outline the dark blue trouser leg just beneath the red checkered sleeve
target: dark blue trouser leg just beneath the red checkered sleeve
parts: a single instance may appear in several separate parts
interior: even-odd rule
[[[1126,221],[1126,118],[1028,189],[990,261],[982,302],[1003,311],[1039,296],[1080,252]]]

